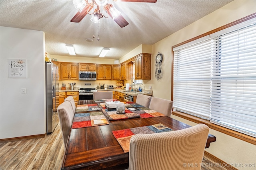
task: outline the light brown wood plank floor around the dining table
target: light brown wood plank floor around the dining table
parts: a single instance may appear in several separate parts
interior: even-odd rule
[[[64,156],[64,143],[60,123],[45,138],[0,143],[0,170],[60,170]],[[226,170],[213,167],[212,160],[204,156],[201,170]]]

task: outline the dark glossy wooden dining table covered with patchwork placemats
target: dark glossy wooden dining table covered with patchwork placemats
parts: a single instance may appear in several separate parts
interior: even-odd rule
[[[81,104],[96,104],[96,102],[94,100],[78,101],[78,105]],[[71,129],[61,169],[126,169],[128,168],[129,153],[124,153],[112,131],[157,123],[162,123],[174,131],[191,127],[171,117],[160,116],[113,120],[109,121],[107,125]],[[216,137],[209,134],[206,148],[214,141],[216,141]]]

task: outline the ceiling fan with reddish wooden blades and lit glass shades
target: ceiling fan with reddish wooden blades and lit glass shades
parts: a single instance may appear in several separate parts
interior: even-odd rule
[[[157,0],[113,0],[121,2],[156,2]],[[80,22],[87,15],[92,15],[91,21],[100,23],[100,18],[108,18],[110,16],[120,27],[125,27],[129,23],[121,15],[112,4],[108,4],[108,0],[73,0],[73,4],[78,10],[76,15],[70,20],[71,22]],[[100,7],[108,14],[105,16],[100,12]],[[93,12],[91,12],[93,10]],[[91,12],[91,13],[90,13]]]

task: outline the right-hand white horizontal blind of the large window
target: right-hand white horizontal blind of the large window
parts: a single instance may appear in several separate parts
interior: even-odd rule
[[[256,24],[212,42],[211,122],[256,137]]]

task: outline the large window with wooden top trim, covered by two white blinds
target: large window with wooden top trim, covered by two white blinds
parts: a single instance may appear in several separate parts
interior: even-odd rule
[[[175,47],[174,109],[256,137],[256,20]]]

